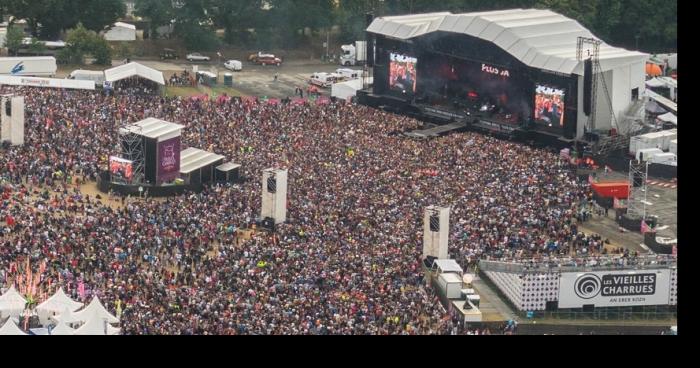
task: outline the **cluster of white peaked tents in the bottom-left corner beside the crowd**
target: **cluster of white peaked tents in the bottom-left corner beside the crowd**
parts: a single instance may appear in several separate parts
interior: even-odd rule
[[[26,335],[17,324],[24,312],[27,300],[11,286],[0,295],[0,321],[7,319],[0,327],[2,335]],[[42,326],[50,326],[49,335],[118,335],[120,329],[112,326],[119,323],[119,318],[112,315],[95,296],[90,304],[76,302],[63,289],[43,303],[34,313]],[[80,309],[82,308],[82,309]]]

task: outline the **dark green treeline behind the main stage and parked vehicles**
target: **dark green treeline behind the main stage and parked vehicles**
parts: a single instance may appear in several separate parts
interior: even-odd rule
[[[365,13],[375,16],[435,11],[549,8],[578,20],[606,42],[648,52],[677,48],[675,0],[135,0],[151,32],[172,27],[192,50],[230,45],[290,48],[307,45],[331,26],[336,41],[363,37]],[[99,31],[125,12],[122,0],[0,0],[0,12],[24,18],[37,36],[52,38],[79,22]],[[41,25],[39,27],[38,25]],[[223,29],[223,39],[216,34]]]

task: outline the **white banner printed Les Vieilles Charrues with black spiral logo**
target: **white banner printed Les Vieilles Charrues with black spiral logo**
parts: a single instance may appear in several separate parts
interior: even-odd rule
[[[559,308],[668,305],[669,289],[668,269],[562,273]]]

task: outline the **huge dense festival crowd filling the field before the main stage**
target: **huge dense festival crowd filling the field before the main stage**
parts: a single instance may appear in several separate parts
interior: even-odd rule
[[[26,259],[44,263],[44,287],[78,297],[80,280],[85,298],[119,302],[126,334],[468,333],[423,286],[434,204],[452,206],[449,250],[463,265],[600,250],[576,228],[586,183],[514,142],[411,140],[395,133],[417,121],[346,103],[2,92],[24,95],[27,113],[26,144],[0,151],[0,285]],[[185,125],[185,147],[241,163],[250,180],[119,207],[83,194],[76,181],[107,168],[117,129],[147,117]],[[243,238],[270,167],[289,169],[288,221]]]

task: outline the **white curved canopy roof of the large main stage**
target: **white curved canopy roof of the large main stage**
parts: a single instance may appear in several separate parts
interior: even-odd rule
[[[376,18],[367,31],[401,40],[433,32],[460,33],[492,42],[530,67],[583,75],[576,58],[578,37],[596,38],[577,21],[546,9],[475,13],[428,13]],[[603,71],[636,62],[648,54],[600,45]]]

